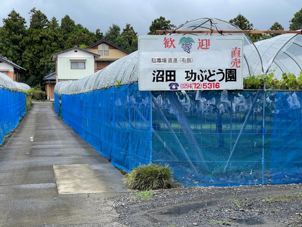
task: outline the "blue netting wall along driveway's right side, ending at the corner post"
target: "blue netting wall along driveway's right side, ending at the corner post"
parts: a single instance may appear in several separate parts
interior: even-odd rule
[[[128,84],[62,94],[61,103],[63,120],[115,166],[130,171],[149,163],[150,92]]]

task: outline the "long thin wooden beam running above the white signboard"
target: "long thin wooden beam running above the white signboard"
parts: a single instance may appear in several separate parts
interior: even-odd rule
[[[262,33],[268,33],[268,34],[302,34],[302,31],[269,31],[269,30],[157,30],[156,34],[201,34],[201,33],[224,33],[224,34],[232,34],[232,33],[244,33],[244,34],[262,34]]]

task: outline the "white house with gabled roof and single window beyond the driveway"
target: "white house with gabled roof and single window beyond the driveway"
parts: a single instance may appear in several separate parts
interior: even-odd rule
[[[95,58],[99,56],[77,46],[51,55],[51,60],[56,62],[56,83],[78,80],[93,74]]]

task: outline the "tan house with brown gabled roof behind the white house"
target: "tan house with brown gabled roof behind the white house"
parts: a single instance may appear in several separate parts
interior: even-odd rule
[[[95,72],[130,54],[129,51],[126,51],[105,39],[86,47],[85,50],[99,55],[98,58],[95,58]]]

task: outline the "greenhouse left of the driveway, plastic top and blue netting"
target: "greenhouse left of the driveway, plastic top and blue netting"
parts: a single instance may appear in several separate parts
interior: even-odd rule
[[[27,84],[14,82],[0,73],[0,104],[5,107],[5,111],[0,113],[0,145],[24,116],[27,107],[26,94],[23,91],[28,90],[30,87]]]

